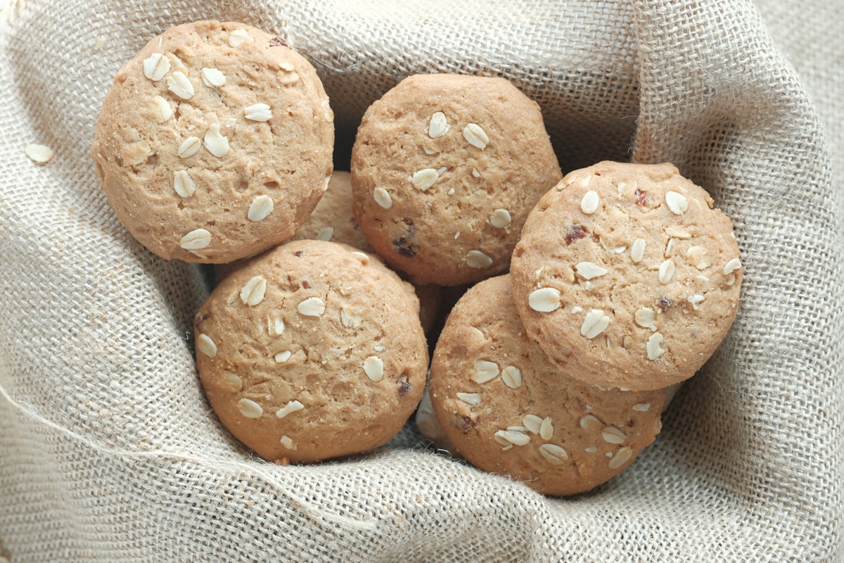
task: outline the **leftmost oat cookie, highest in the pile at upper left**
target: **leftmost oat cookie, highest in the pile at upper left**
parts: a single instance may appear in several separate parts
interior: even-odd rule
[[[117,218],[167,259],[225,263],[293,235],[332,171],[333,113],[281,37],[201,21],[120,69],[91,156]]]

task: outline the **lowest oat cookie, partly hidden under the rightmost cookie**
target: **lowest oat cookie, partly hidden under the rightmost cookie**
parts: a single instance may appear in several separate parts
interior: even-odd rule
[[[528,338],[509,275],[476,284],[448,317],[430,367],[442,430],[474,466],[549,495],[601,485],[657,436],[664,392],[602,390]]]

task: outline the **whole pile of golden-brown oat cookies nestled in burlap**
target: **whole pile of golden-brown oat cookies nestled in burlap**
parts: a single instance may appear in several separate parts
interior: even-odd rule
[[[333,143],[306,58],[204,21],[117,73],[91,149],[138,241],[215,265],[197,371],[268,461],[386,443],[430,360],[426,436],[546,494],[590,490],[655,439],[733,322],[738,244],[709,195],[668,164],[563,177],[503,78],[410,76],[366,111],[350,172]]]

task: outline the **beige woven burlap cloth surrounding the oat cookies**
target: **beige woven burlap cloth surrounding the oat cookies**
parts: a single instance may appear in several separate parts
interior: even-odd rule
[[[844,558],[841,3],[6,1],[0,51],[0,541],[24,561]],[[202,268],[127,235],[88,151],[116,70],[192,19],[288,38],[324,79],[338,167],[409,73],[500,74],[565,171],[671,160],[733,217],[744,300],[663,434],[546,498],[410,426],[341,463],[250,457],[194,371]],[[26,143],[56,151],[47,165]],[[836,176],[838,175],[838,176]]]

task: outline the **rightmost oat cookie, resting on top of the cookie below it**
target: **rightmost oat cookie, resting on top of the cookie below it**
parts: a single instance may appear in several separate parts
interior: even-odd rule
[[[513,252],[522,322],[560,369],[637,391],[692,376],[733,324],[730,219],[670,164],[601,162],[533,209]]]

